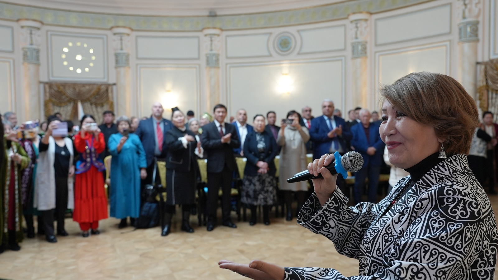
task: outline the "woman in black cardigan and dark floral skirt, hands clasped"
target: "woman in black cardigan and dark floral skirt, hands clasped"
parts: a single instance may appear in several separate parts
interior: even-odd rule
[[[264,117],[256,115],[253,119],[254,131],[250,132],[244,142],[244,155],[247,157],[244,169],[241,202],[251,210],[249,225],[256,224],[256,205],[263,206],[263,221],[270,224],[269,206],[276,200],[275,163],[278,146],[272,135],[264,131]]]

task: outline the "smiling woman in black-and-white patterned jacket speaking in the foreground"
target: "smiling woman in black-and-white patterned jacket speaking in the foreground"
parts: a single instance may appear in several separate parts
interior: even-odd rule
[[[400,78],[380,94],[389,161],[410,175],[379,203],[348,207],[337,175],[323,167],[334,160],[325,154],[308,165],[323,178],[313,180],[315,192],[298,217],[340,254],[358,259],[360,276],[262,261],[220,267],[252,279],[494,279],[497,223],[466,157],[479,121],[475,101],[455,79],[428,72]]]

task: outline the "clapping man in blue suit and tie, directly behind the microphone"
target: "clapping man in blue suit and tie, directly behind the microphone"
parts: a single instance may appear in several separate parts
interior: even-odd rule
[[[343,118],[334,116],[334,102],[325,99],[322,102],[322,113],[311,121],[310,139],[313,141],[313,159],[320,158],[326,153],[338,151],[344,154],[348,151],[346,141],[353,137]],[[349,196],[346,182],[342,175],[337,177],[337,186]]]

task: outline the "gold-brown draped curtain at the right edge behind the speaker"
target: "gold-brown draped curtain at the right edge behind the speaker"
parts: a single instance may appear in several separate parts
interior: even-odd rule
[[[479,109],[491,111],[498,121],[498,59],[481,62],[477,67],[477,94]]]

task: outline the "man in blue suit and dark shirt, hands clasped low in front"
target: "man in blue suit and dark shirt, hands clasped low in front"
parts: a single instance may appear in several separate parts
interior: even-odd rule
[[[383,159],[384,142],[380,139],[378,122],[371,123],[370,118],[369,110],[360,110],[361,123],[351,128],[353,133],[351,145],[362,155],[364,162],[363,168],[355,172],[355,204],[362,201],[367,176],[369,177],[369,202],[377,202],[378,176]]]

